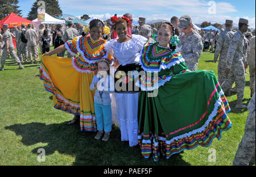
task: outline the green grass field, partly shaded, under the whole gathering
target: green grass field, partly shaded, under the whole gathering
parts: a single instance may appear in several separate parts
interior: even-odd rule
[[[40,50],[39,50],[40,53]],[[222,132],[220,141],[214,139],[209,147],[185,150],[158,162],[145,159],[139,146],[129,147],[121,141],[118,127],[114,127],[108,142],[94,140],[96,132],[81,132],[79,124],[68,127],[72,115],[53,108],[51,93],[39,79],[39,64],[24,64],[23,70],[13,59],[6,60],[0,71],[0,165],[196,165],[230,166],[240,143],[249,113],[235,109],[237,96],[228,96],[232,111],[228,113],[232,128]],[[203,52],[199,69],[213,70],[217,64],[213,53]],[[247,69],[247,71],[249,71]],[[249,75],[243,104],[250,100]],[[46,161],[39,162],[39,148],[46,151]],[[216,150],[216,161],[209,161]]]

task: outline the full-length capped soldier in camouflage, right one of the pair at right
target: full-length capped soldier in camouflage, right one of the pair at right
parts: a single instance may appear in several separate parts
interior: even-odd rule
[[[247,31],[248,20],[239,20],[239,30],[234,33],[232,41],[230,42],[228,54],[227,54],[227,64],[225,73],[228,75],[228,79],[222,83],[222,90],[226,93],[229,88],[232,87],[233,83],[236,82],[237,87],[237,105],[235,108],[246,108],[242,104],[243,101],[243,91],[245,90],[245,68],[246,64],[243,64],[244,58],[244,38],[243,33]],[[246,63],[247,61],[245,61]]]

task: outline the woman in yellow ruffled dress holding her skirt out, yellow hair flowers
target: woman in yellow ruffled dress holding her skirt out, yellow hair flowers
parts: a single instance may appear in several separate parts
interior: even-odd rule
[[[85,131],[96,131],[96,117],[90,83],[97,71],[96,62],[108,57],[110,63],[114,58],[106,53],[102,33],[109,32],[104,22],[94,19],[89,24],[90,34],[77,36],[64,45],[46,52],[40,64],[40,79],[44,87],[51,92],[56,109],[72,113],[72,125],[80,117],[80,128]],[[68,50],[73,58],[51,57],[51,55]],[[78,54],[78,56],[76,56]]]

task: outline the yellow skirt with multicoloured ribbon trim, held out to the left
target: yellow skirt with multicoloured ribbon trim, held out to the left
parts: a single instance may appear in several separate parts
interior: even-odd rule
[[[42,56],[40,79],[44,88],[53,94],[56,109],[80,115],[81,130],[96,131],[95,91],[90,90],[96,70],[82,70],[82,66],[76,65],[77,61],[77,58]]]

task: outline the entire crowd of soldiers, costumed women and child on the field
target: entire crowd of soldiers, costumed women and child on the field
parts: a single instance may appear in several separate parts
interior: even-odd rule
[[[145,24],[142,17],[138,23],[134,27],[133,16],[127,13],[114,15],[110,23],[94,19],[87,28],[81,23],[74,27],[69,20],[66,29],[40,24],[36,32],[28,24],[28,29],[22,25],[11,35],[4,25],[0,70],[7,53],[19,69],[23,54],[25,62],[28,56],[36,62],[39,44],[44,54],[40,79],[53,94],[54,107],[74,115],[68,125],[80,122],[81,130],[98,131],[95,138],[104,135],[102,140],[108,141],[117,119],[121,141],[139,144],[143,157],[158,161],[160,154],[170,158],[185,149],[209,146],[214,137],[220,139],[232,125],[225,95],[234,82],[235,108],[246,108],[242,101],[249,65],[251,101],[245,134],[250,136],[243,137],[233,164],[255,163],[255,36],[248,32],[248,20],[241,18],[233,32],[233,21],[227,19],[220,33],[197,31],[189,15],[173,16],[158,27]],[[218,79],[212,71],[197,70],[206,42],[214,63],[218,61]],[[55,49],[50,51],[51,43]]]

